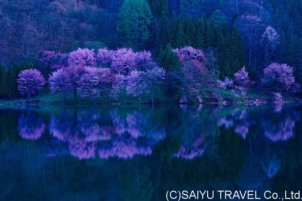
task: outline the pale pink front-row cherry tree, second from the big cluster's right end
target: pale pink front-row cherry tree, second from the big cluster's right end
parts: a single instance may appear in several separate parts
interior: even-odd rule
[[[141,95],[146,89],[146,80],[144,79],[145,72],[137,71],[136,69],[131,71],[127,76],[127,86],[126,90],[128,94],[133,97],[138,97],[141,101]]]

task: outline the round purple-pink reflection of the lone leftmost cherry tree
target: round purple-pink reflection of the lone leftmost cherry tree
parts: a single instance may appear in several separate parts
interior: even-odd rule
[[[18,131],[25,139],[38,139],[44,132],[46,125],[35,115],[30,117],[21,115],[19,117]]]

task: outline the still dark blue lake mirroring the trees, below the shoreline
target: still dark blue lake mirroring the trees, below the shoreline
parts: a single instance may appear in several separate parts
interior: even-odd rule
[[[2,107],[0,199],[282,197],[302,190],[301,112],[300,104]]]

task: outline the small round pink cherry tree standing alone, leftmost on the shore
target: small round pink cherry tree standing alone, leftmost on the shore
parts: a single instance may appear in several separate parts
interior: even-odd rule
[[[45,79],[41,75],[41,72],[37,69],[27,69],[20,72],[17,79],[18,90],[23,94],[27,93],[27,99],[31,95],[35,95],[37,91],[40,91],[45,85]]]

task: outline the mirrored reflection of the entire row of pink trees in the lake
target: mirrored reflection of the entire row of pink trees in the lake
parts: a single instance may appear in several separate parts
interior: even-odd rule
[[[281,108],[280,108],[281,107]],[[276,110],[276,108],[278,108]],[[219,128],[234,128],[234,132],[246,139],[249,129],[257,125],[264,129],[264,136],[276,142],[293,136],[295,112],[281,112],[282,105],[274,111],[257,110],[246,106],[211,107],[101,107],[64,108],[49,114],[47,121],[38,117],[38,112],[25,110],[18,117],[18,131],[25,139],[37,140],[48,125],[50,136],[57,143],[68,144],[70,154],[79,159],[95,157],[132,158],[134,155],[150,155],[152,147],[166,137],[166,131],[182,136],[182,143],[174,157],[193,159],[201,156],[210,138],[219,133]],[[172,119],[163,115],[177,112]],[[174,118],[173,118],[174,117]],[[167,126],[171,124],[172,127]],[[259,126],[261,125],[261,126]],[[56,150],[52,151],[53,155]]]

